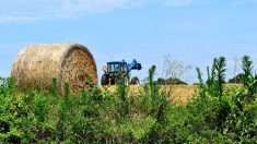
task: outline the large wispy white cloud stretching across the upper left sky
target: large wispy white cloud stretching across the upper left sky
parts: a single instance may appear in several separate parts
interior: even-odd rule
[[[77,17],[140,5],[145,0],[0,0],[0,23]]]

